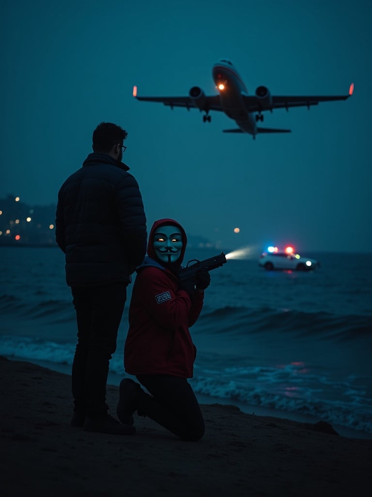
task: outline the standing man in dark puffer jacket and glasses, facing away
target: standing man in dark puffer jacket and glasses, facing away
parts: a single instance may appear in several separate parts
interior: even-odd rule
[[[103,122],[93,153],[63,183],[56,241],[65,253],[66,282],[77,320],[72,364],[72,426],[132,434],[108,414],[106,383],[116,350],[130,275],[146,253],[146,217],[137,181],[122,162],[127,132]]]

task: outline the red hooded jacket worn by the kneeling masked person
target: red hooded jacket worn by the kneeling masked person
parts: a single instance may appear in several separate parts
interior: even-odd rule
[[[150,232],[148,257],[137,268],[129,306],[129,331],[124,347],[125,371],[132,375],[166,374],[192,378],[196,347],[188,327],[199,317],[204,292],[195,292],[192,301],[179,290],[178,277],[156,258],[153,233],[160,225],[177,226],[186,250],[186,233],[173,219],[156,221]]]

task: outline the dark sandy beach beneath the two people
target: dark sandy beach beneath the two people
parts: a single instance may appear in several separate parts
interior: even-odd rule
[[[89,433],[70,427],[69,375],[3,357],[0,370],[4,497],[371,496],[372,440],[329,424],[211,404],[199,442],[136,415],[133,436]],[[115,414],[118,387],[107,397]]]

